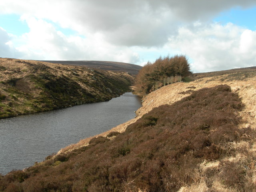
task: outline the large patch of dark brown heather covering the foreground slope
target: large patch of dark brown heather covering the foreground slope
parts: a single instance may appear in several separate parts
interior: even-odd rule
[[[0,191],[176,192],[202,181],[211,188],[216,178],[230,191],[253,191],[248,174],[254,158],[242,143],[252,144],[255,130],[238,127],[243,107],[227,85],[194,91],[154,108],[112,140],[93,138],[88,146],[10,172],[0,178]],[[248,158],[228,160],[238,152]],[[216,160],[222,166],[199,166]]]

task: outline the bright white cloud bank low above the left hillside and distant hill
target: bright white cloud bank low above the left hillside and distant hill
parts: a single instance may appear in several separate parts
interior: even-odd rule
[[[33,56],[37,60],[116,60],[136,63],[138,55],[123,46],[114,46],[106,42],[102,34],[90,34],[87,37],[66,36],[56,30],[52,24],[34,17],[23,17],[30,32],[23,34],[19,40],[24,43],[17,47],[26,52],[21,58]],[[33,55],[30,52],[33,50]],[[35,55],[36,54],[36,55]]]

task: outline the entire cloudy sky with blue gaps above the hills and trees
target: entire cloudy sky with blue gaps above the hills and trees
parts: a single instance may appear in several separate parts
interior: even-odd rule
[[[256,66],[255,0],[0,0],[0,57]]]

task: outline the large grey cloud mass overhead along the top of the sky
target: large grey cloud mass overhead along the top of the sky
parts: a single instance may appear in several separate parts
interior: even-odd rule
[[[123,46],[159,46],[180,22],[208,20],[234,6],[254,0],[1,0],[0,12],[27,14],[57,22],[87,36],[95,32]]]

